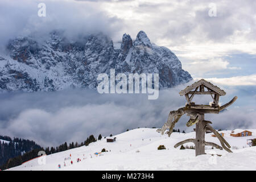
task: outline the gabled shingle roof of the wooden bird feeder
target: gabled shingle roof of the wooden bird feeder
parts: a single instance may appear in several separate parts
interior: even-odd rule
[[[197,88],[200,85],[206,86],[207,88],[213,90],[214,92],[220,94],[221,96],[225,96],[225,94],[226,94],[226,92],[224,90],[221,90],[220,88],[218,88],[218,86],[213,85],[212,83],[210,83],[209,81],[206,81],[204,79],[201,79],[201,80],[193,83],[192,85],[187,86],[185,89],[181,90],[179,94],[180,94],[180,96],[184,96],[184,94],[190,92],[191,90]]]

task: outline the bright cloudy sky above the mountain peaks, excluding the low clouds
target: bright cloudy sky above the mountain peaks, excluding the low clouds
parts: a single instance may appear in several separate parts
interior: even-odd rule
[[[39,3],[46,5],[45,17],[38,16]],[[193,78],[255,85],[255,6],[253,0],[1,1],[0,38],[3,44],[63,28],[67,36],[102,31],[118,42],[124,33],[135,39],[143,30],[151,42],[170,48]]]

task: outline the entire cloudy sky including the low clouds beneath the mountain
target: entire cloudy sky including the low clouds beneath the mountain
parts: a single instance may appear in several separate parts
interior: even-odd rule
[[[38,16],[39,3],[46,5],[45,17]],[[224,88],[228,93],[224,101],[238,96],[234,111],[209,115],[217,120],[216,127],[256,127],[255,7],[254,0],[4,0],[0,1],[0,48],[10,38],[41,37],[53,29],[63,29],[68,38],[74,39],[76,35],[102,31],[114,42],[119,42],[124,33],[135,39],[143,30],[151,42],[170,48],[193,78],[207,78]],[[132,127],[160,127],[170,110],[184,105],[184,98],[172,94],[179,89],[183,88],[160,92],[158,101],[148,101],[143,96],[98,96],[89,91],[94,99],[80,100],[76,92],[86,96],[79,90],[1,94],[0,134],[49,145],[81,140],[89,134],[117,134]],[[169,94],[175,97],[168,97]],[[141,102],[134,105],[137,100]],[[184,127],[186,119],[178,126],[189,131]]]

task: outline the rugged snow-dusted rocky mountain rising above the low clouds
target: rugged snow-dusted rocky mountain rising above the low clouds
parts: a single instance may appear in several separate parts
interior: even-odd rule
[[[121,47],[99,33],[69,41],[53,31],[43,41],[32,37],[10,40],[0,55],[0,90],[50,91],[69,87],[96,89],[99,73],[159,73],[159,88],[192,80],[175,54],[150,42],[140,31],[136,40],[124,34]]]

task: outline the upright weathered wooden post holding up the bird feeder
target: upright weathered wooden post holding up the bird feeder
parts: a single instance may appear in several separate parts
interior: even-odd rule
[[[196,156],[205,154],[205,124],[204,124],[204,114],[200,114],[200,121],[196,123]]]

